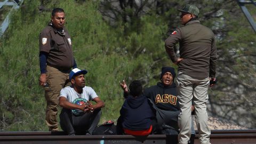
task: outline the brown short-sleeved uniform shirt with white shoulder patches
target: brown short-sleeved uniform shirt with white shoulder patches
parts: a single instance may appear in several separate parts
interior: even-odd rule
[[[59,70],[70,70],[74,66],[71,37],[60,35],[52,26],[45,27],[39,35],[39,51],[48,53],[47,65]]]

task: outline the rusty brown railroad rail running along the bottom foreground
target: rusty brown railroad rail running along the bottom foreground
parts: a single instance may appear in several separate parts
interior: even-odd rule
[[[134,137],[132,135],[74,135],[68,136],[64,132],[0,132],[0,144],[77,144],[77,143],[173,143],[175,135],[148,135],[148,137]],[[256,130],[212,130],[212,144],[252,144],[256,143]],[[198,134],[195,144],[199,143]]]

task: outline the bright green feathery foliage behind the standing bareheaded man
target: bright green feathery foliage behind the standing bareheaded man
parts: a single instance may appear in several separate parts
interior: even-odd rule
[[[125,35],[123,25],[110,27],[102,20],[98,3],[71,0],[42,3],[44,10],[39,11],[40,1],[25,1],[13,13],[11,25],[1,39],[0,129],[47,130],[44,91],[38,86],[38,36],[50,21],[52,7],[65,10],[78,67],[89,71],[86,84],[106,103],[101,121],[116,120],[123,103],[119,81],[141,79],[147,84],[149,78],[153,79],[153,72],[159,74],[161,66],[154,65],[154,60],[162,60],[162,54],[165,55],[162,35],[166,26],[159,22],[161,19],[148,23],[151,16],[143,17],[145,26],[140,33],[131,31]]]

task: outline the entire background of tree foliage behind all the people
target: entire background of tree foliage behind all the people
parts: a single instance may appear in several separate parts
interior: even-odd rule
[[[38,85],[38,36],[53,7],[66,12],[78,68],[86,84],[105,101],[102,121],[119,116],[119,81],[156,84],[167,57],[164,39],[180,26],[185,3],[197,5],[199,20],[218,42],[218,85],[210,90],[211,115],[253,128],[255,119],[255,34],[235,1],[25,0],[13,12],[0,40],[0,131],[46,131],[44,90]],[[177,46],[177,50],[179,47]],[[178,51],[177,51],[178,52]]]

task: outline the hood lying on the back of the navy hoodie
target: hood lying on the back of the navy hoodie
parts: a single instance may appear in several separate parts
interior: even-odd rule
[[[146,99],[147,98],[144,95],[140,95],[139,97],[132,97],[131,95],[129,95],[126,100],[128,105],[134,109],[141,106],[145,101],[147,101]]]

